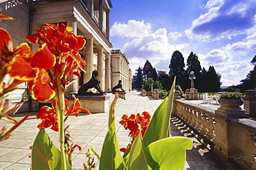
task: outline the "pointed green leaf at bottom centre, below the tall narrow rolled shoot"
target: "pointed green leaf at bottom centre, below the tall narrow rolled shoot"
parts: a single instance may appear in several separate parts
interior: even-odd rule
[[[100,155],[100,168],[106,169],[125,169],[125,162],[119,151],[118,138],[116,136],[115,121],[112,122],[104,140]]]

